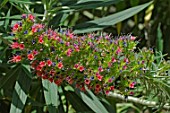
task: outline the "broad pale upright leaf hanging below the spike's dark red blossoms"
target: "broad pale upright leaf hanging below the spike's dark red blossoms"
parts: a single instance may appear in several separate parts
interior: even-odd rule
[[[49,113],[57,113],[59,102],[58,87],[54,82],[42,80],[45,102]]]

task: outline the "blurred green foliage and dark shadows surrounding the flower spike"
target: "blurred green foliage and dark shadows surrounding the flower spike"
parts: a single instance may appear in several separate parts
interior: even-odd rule
[[[160,90],[144,98],[161,101],[162,106],[124,103],[112,97],[96,97],[90,91],[86,95],[67,85],[57,87],[34,78],[27,65],[8,63],[11,26],[22,14],[30,13],[48,27],[71,29],[80,35],[133,34],[140,41],[139,48],[151,47],[158,51],[158,57],[162,56],[159,52],[167,54],[166,59],[170,56],[170,0],[0,0],[0,113],[168,112],[163,105],[170,101],[161,98],[164,93]],[[157,89],[161,84],[161,91],[170,98],[169,77],[161,78],[161,83],[154,80],[149,78],[146,85],[151,82],[151,89]]]

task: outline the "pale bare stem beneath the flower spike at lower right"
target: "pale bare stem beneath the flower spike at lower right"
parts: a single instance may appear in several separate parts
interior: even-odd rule
[[[127,99],[125,99],[125,96],[123,96],[121,94],[117,94],[117,93],[109,93],[108,96],[113,97],[113,98],[118,98],[121,100],[126,100],[129,102],[134,102],[134,103],[145,105],[145,106],[154,106],[154,107],[158,106],[158,103],[156,103],[155,101],[143,100],[143,99],[132,97],[132,96],[128,96]],[[163,108],[170,110],[170,106],[168,104],[164,105]]]

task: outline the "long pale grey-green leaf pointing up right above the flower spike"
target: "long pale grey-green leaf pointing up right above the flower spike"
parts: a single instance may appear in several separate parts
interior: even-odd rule
[[[136,7],[126,9],[116,14],[112,14],[112,15],[109,15],[109,16],[106,16],[100,19],[96,19],[96,20],[92,20],[92,21],[79,24],[74,27],[74,33],[78,34],[78,33],[86,33],[86,32],[92,32],[96,30],[102,30],[106,27],[112,26],[116,23],[119,23],[135,15],[136,13],[140,12],[141,10],[149,6],[151,3],[152,2],[148,2],[142,5],[136,6]]]

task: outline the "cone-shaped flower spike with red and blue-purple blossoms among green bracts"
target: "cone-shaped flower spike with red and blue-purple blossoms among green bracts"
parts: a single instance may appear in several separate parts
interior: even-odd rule
[[[77,36],[65,30],[57,32],[35,23],[34,16],[22,15],[12,28],[14,49],[11,62],[29,61],[33,72],[57,85],[66,82],[85,91],[108,94],[119,90],[133,94],[136,79],[153,62],[152,50],[135,52],[137,42],[131,35]],[[142,52],[143,51],[143,52]]]

